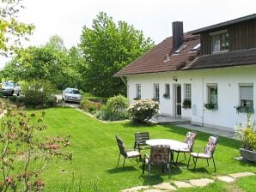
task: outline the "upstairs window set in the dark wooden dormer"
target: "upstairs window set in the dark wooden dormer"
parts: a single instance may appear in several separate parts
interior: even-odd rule
[[[229,51],[229,33],[212,36],[212,52]]]

